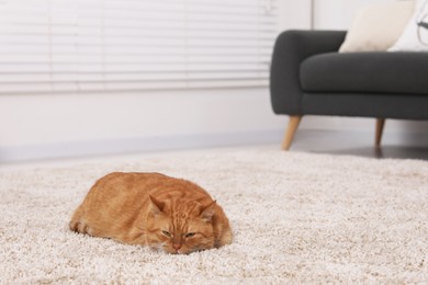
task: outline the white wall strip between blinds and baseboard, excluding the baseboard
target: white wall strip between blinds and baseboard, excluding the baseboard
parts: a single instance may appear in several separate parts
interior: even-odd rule
[[[2,145],[275,128],[266,88],[2,96]],[[269,127],[270,126],[270,127]]]

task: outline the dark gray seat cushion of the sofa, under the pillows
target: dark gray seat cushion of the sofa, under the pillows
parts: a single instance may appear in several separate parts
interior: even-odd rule
[[[428,95],[428,53],[328,53],[300,69],[307,92]]]

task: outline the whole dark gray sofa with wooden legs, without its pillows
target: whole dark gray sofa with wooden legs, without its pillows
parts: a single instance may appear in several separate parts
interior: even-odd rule
[[[270,91],[273,112],[290,115],[289,149],[304,115],[428,119],[428,53],[337,50],[345,31],[286,31],[275,42]]]

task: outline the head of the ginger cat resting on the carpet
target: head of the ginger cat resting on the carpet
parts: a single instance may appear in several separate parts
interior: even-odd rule
[[[157,250],[172,254],[189,254],[215,247],[212,220],[215,201],[202,205],[182,202],[167,205],[150,196],[147,220],[147,243]]]

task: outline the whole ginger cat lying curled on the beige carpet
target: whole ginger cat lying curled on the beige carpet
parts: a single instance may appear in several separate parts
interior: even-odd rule
[[[160,173],[111,173],[91,187],[70,229],[188,254],[232,242],[221,206],[196,184]]]

